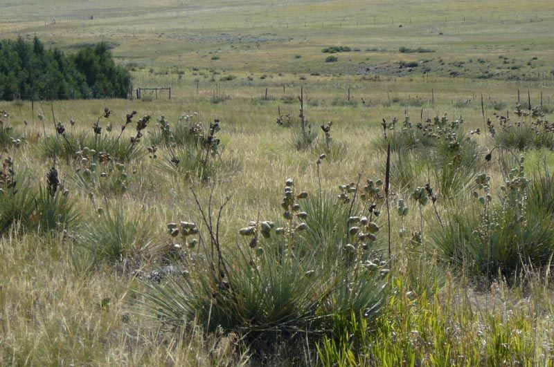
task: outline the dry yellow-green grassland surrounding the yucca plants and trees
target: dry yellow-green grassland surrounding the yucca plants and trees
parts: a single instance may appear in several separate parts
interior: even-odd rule
[[[487,173],[496,198],[506,181],[505,156],[485,163],[485,154],[498,144],[486,120],[497,131],[494,113],[517,120],[518,95],[522,104],[542,104],[544,120],[552,119],[553,20],[552,1],[0,0],[1,38],[37,35],[65,53],[105,41],[118,64],[131,70],[134,88],[170,86],[172,91],[171,99],[165,91],[143,91],[137,100],[133,91],[128,100],[0,102],[0,111],[9,113],[3,120],[25,137],[21,146],[0,150],[0,157],[12,157],[16,172],[26,167],[32,178],[28,185],[35,189],[44,187],[53,163],[44,153],[46,138],[64,144],[55,122],[64,124],[67,135],[92,135],[93,123],[108,108],[113,113],[100,118],[102,136],[115,138],[127,113],[152,116],[139,144],[141,153],[125,162],[125,190],[83,183],[76,171],[80,163],[57,157],[56,168],[78,221],[67,232],[46,235],[25,229],[0,236],[0,364],[332,365],[317,352],[318,337],[295,341],[294,346],[279,339],[269,351],[259,352],[249,348],[244,330],[208,332],[193,317],[186,319],[186,327],[175,328],[142,307],[152,281],[132,274],[159,270],[159,254],[165,251],[160,249],[172,241],[166,224],[190,220],[200,225],[190,188],[204,203],[212,187],[167,169],[173,151],[163,144],[157,146],[156,157],[148,153],[159,133],[157,119],[165,116],[173,128],[185,124],[186,115],[187,124],[202,122],[206,128],[220,120],[217,159],[224,165],[213,195],[217,203],[232,196],[222,211],[221,228],[222,243],[229,248],[242,243],[238,229],[249,221],[278,221],[287,178],[316,196],[321,176],[324,193],[333,197],[339,185],[356,182],[359,175],[362,180],[384,179],[382,119],[397,117],[396,129],[406,116],[413,124],[445,113],[449,121],[463,120],[461,131],[481,147],[471,174]],[[330,46],[350,51],[322,52]],[[336,61],[326,62],[329,56]],[[294,128],[276,120],[289,115],[299,123],[301,88],[307,123],[318,137],[307,149],[297,150]],[[343,150],[317,165],[325,147],[319,126],[330,121],[332,139]],[[470,135],[476,129],[481,133]],[[127,129],[123,139],[134,133]],[[554,164],[551,149],[519,154],[525,157],[528,178]],[[436,211],[444,220],[451,207],[479,211],[470,204],[472,193],[465,186],[452,200],[441,196],[440,178],[425,163],[425,155],[424,150],[408,156],[417,167],[406,182],[397,172],[402,170],[400,153],[393,153],[391,164],[397,171],[391,191],[411,211],[402,222],[391,220],[391,292],[382,318],[363,339],[366,344],[360,347],[352,339],[343,351],[347,356],[332,361],[368,366],[552,365],[549,263],[521,272],[516,281],[481,282],[438,261],[431,235],[424,237],[424,246],[409,246],[410,234],[422,229],[422,223],[426,235],[438,228]],[[438,209],[426,205],[420,216],[411,192],[427,182],[438,192]],[[91,271],[79,263],[88,260],[79,258],[75,243],[105,216],[99,209],[132,218],[146,232],[135,229],[128,256],[101,262]],[[386,219],[380,220],[375,251],[386,254]],[[397,236],[402,228],[406,238]]]

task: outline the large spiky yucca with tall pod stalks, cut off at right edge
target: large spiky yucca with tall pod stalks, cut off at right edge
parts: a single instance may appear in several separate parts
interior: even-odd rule
[[[528,200],[523,165],[510,172],[499,203],[492,202],[488,176],[478,175],[476,184],[480,209],[452,209],[445,227],[431,232],[443,258],[474,276],[508,280],[526,265],[546,265],[554,253],[554,221],[542,203]]]

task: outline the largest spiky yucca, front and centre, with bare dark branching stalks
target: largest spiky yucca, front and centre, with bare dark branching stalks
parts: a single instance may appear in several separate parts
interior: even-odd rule
[[[174,323],[196,318],[207,330],[248,332],[249,341],[274,335],[329,334],[336,314],[350,317],[353,312],[373,319],[384,304],[386,272],[370,261],[356,266],[343,261],[340,245],[331,256],[331,250],[323,252],[316,243],[300,246],[306,241],[308,214],[301,209],[305,198],[307,193],[295,191],[288,179],[282,203],[284,226],[253,221],[240,229],[248,243],[225,247],[219,242],[223,206],[206,211],[199,205],[208,233],[200,233],[199,244],[194,241],[191,246],[185,240],[188,245],[181,245],[189,249],[186,276],[150,284],[143,292],[145,307]],[[212,219],[215,213],[219,213],[217,219]],[[181,223],[181,229],[176,223],[168,228],[174,238],[179,231],[186,236],[193,229],[198,233],[196,225],[187,222]],[[314,231],[313,236],[321,232]],[[205,238],[209,243],[202,241]],[[191,249],[198,249],[200,256],[190,256],[195,251]]]

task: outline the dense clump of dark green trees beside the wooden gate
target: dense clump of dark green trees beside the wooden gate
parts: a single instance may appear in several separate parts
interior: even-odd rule
[[[131,89],[129,70],[104,42],[66,56],[37,37],[0,41],[0,100],[125,98]]]

